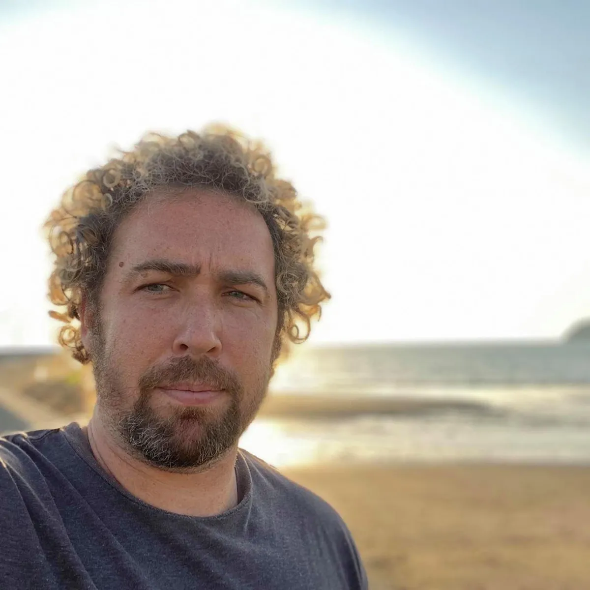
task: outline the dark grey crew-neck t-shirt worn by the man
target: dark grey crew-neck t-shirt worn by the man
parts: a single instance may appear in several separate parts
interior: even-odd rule
[[[183,516],[125,490],[76,422],[0,437],[0,588],[367,588],[329,504],[246,451],[236,473],[237,506]]]

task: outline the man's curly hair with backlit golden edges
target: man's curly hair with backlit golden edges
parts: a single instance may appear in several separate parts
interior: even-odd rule
[[[156,189],[186,187],[237,196],[253,204],[266,222],[278,300],[273,363],[289,342],[309,336],[311,320],[319,319],[322,302],[330,298],[314,270],[313,250],[324,219],[297,198],[290,182],[276,178],[276,166],[262,143],[229,127],[209,125],[178,137],[148,133],[133,150],[120,150],[119,158],[86,172],[64,192],[45,222],[55,255],[49,299],[65,307],[50,316],[65,323],[58,341],[74,359],[91,361],[81,340],[78,309],[83,296],[98,309],[120,222]]]

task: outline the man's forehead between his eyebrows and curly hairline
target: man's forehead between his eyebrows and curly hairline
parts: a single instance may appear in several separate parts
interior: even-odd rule
[[[270,232],[254,206],[200,189],[148,196],[117,228],[112,255],[117,262],[165,257],[274,271]]]

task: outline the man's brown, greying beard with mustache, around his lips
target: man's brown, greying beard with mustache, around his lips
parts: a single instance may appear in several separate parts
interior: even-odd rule
[[[268,363],[266,371],[259,371],[252,390],[245,391],[234,372],[211,358],[183,356],[143,373],[133,388],[139,396],[129,408],[130,388],[124,385],[119,363],[103,342],[93,357],[97,405],[104,426],[134,457],[165,471],[204,470],[236,447],[264,401],[271,376]],[[172,388],[186,381],[223,389],[229,404],[221,411],[219,407],[173,407],[165,416],[150,405],[156,388]]]

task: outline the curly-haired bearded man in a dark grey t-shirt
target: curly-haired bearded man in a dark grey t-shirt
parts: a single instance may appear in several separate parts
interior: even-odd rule
[[[0,439],[0,588],[359,589],[330,506],[238,439],[328,294],[319,218],[227,129],[149,136],[47,223],[87,427]]]

